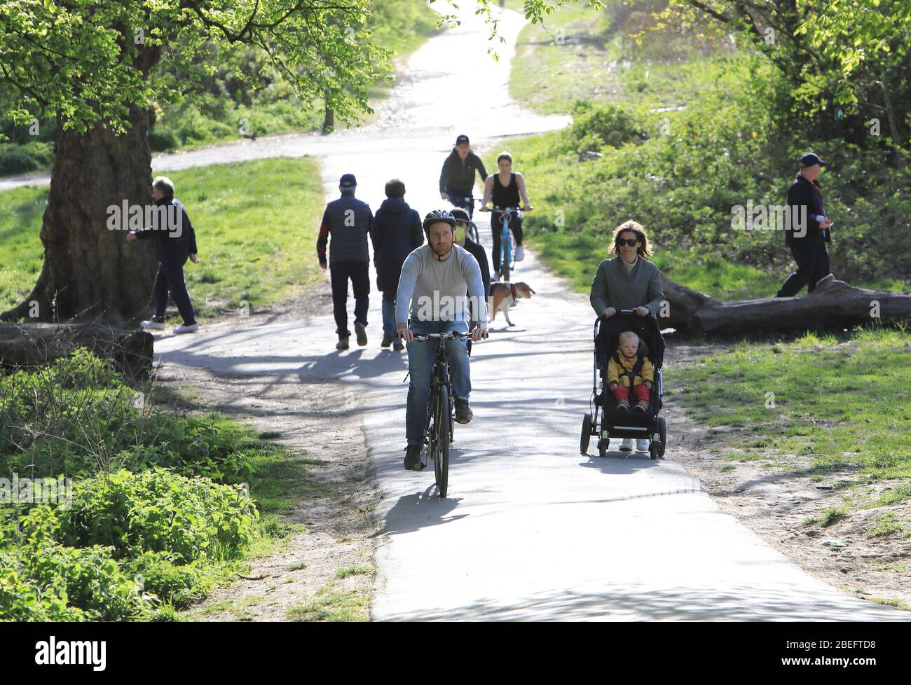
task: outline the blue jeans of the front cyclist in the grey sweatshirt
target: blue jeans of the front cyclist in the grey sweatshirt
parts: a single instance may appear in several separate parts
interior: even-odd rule
[[[468,332],[467,322],[422,322],[412,319],[408,327],[414,333]],[[404,415],[405,437],[408,445],[424,445],[424,428],[427,424],[427,404],[430,401],[430,374],[436,359],[435,340],[406,342],[408,350],[408,406]],[[446,359],[449,361],[449,378],[456,397],[471,393],[471,373],[468,368],[466,342],[446,341]]]

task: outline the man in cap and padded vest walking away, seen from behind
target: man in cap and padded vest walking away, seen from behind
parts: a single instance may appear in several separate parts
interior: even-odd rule
[[[316,253],[320,268],[325,269],[326,243],[329,243],[329,271],[333,284],[333,312],[335,332],[339,342],[336,350],[347,350],[351,332],[348,330],[348,279],[354,291],[354,332],[357,343],[367,344],[367,308],[370,305],[370,252],[367,236],[374,240],[374,215],[366,202],[354,198],[357,180],[353,174],[345,174],[339,180],[342,197],[326,205],[322,213],[320,237],[316,240]],[[333,240],[329,240],[332,234]],[[375,252],[375,247],[374,247]]]

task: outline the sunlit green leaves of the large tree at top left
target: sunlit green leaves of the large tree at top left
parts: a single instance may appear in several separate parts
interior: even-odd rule
[[[5,115],[23,125],[46,112],[59,114],[65,129],[102,124],[123,132],[129,107],[186,92],[204,73],[198,59],[210,60],[214,49],[214,63],[230,65],[242,56],[230,46],[243,44],[268,56],[302,107],[325,97],[347,120],[368,109],[366,87],[391,68],[388,52],[370,41],[367,15],[368,0],[7,0],[0,5],[0,90],[17,101]],[[162,60],[179,64],[184,82],[156,78]]]

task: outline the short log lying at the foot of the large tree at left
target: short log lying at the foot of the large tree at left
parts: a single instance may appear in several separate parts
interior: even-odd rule
[[[85,347],[128,377],[145,378],[153,344],[148,332],[97,323],[0,323],[0,366],[36,368]]]

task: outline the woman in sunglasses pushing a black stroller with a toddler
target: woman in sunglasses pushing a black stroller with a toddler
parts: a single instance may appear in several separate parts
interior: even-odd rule
[[[598,316],[611,317],[621,309],[631,309],[640,316],[658,318],[664,301],[661,272],[651,261],[649,236],[636,221],[627,221],[614,230],[613,259],[602,261],[591,281],[589,301]],[[626,438],[620,449],[632,450],[632,439]],[[649,441],[636,441],[640,452],[649,450]]]

